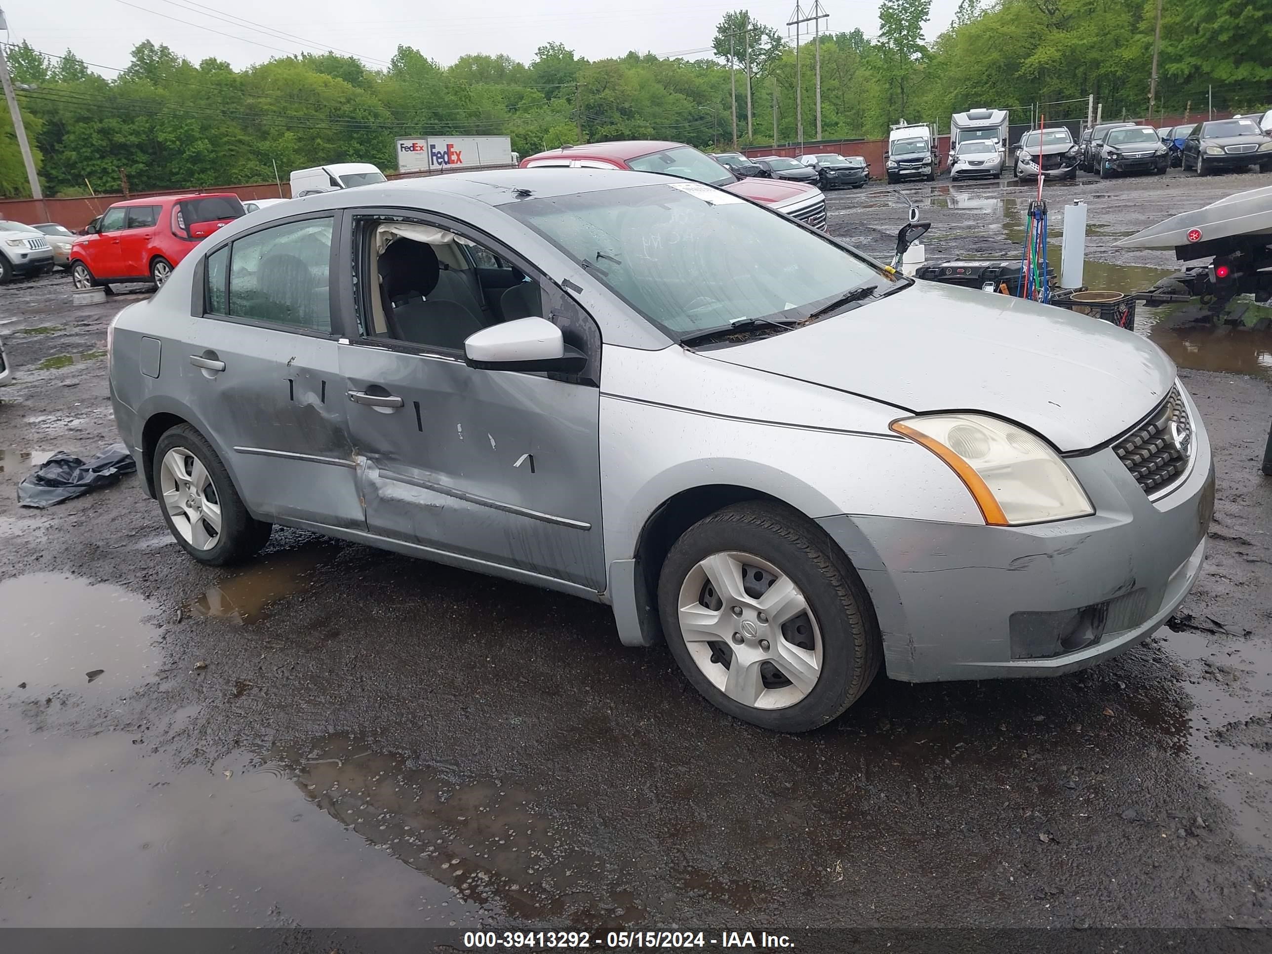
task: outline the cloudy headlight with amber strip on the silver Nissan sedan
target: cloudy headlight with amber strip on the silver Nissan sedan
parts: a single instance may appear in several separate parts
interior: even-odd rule
[[[1068,466],[1037,436],[997,417],[927,415],[892,422],[967,485],[985,522],[1019,527],[1095,513]]]

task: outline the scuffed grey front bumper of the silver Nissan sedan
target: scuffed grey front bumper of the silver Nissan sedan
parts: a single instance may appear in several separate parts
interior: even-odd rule
[[[908,682],[1060,675],[1158,630],[1201,574],[1213,510],[1210,441],[1152,501],[1110,449],[1068,458],[1095,514],[1033,527],[841,515],[818,523],[854,561]]]

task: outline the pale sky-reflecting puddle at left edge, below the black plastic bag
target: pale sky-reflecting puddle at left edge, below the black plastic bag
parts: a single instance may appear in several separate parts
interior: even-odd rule
[[[28,574],[0,583],[0,688],[118,693],[155,664],[148,603],[109,584]],[[98,670],[100,670],[98,673]],[[98,673],[92,679],[90,673]]]

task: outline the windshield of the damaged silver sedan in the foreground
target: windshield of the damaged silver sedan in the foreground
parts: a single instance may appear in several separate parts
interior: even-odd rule
[[[747,318],[792,321],[887,281],[833,242],[728,192],[689,183],[500,206],[674,338]]]

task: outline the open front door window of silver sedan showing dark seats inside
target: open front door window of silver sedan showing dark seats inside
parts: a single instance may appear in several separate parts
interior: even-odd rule
[[[368,337],[463,350],[473,332],[543,314],[537,281],[446,229],[417,223],[374,225]]]

